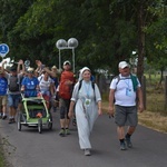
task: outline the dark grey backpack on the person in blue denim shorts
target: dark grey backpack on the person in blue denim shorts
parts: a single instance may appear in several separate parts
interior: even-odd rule
[[[18,76],[9,76],[8,88],[10,91],[19,91],[20,90],[20,81],[19,81]]]

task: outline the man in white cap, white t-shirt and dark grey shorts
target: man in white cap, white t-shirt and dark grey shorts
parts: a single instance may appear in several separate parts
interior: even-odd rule
[[[109,87],[109,115],[114,117],[115,104],[115,122],[117,125],[120,150],[126,150],[127,147],[132,147],[130,137],[138,122],[137,105],[138,110],[141,112],[144,102],[141,85],[138,78],[130,73],[129,65],[126,61],[120,61],[118,68],[119,76],[112,79]],[[125,126],[128,126],[126,135]]]

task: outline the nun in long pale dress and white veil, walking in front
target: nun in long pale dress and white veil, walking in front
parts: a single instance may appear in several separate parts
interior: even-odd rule
[[[76,104],[75,112],[78,127],[79,145],[85,150],[86,156],[90,156],[90,132],[94,124],[101,115],[101,96],[99,88],[90,80],[91,71],[88,67],[81,69],[82,80],[78,81],[75,86],[69,117],[73,116],[73,107]]]

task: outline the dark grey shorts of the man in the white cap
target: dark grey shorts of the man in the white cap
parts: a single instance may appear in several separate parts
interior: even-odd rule
[[[125,107],[116,105],[115,108],[115,122],[117,126],[137,126],[138,116],[136,106]]]

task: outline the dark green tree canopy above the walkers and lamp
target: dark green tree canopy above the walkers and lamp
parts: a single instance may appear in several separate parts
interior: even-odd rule
[[[58,66],[56,42],[73,37],[76,69],[117,71],[120,60],[138,55],[138,76],[144,58],[161,65],[167,51],[166,0],[0,0],[0,41],[8,43],[7,57],[40,59]],[[160,57],[160,59],[157,59]],[[62,60],[71,52],[62,51]],[[166,63],[164,63],[166,67]],[[159,67],[160,68],[160,67]]]

